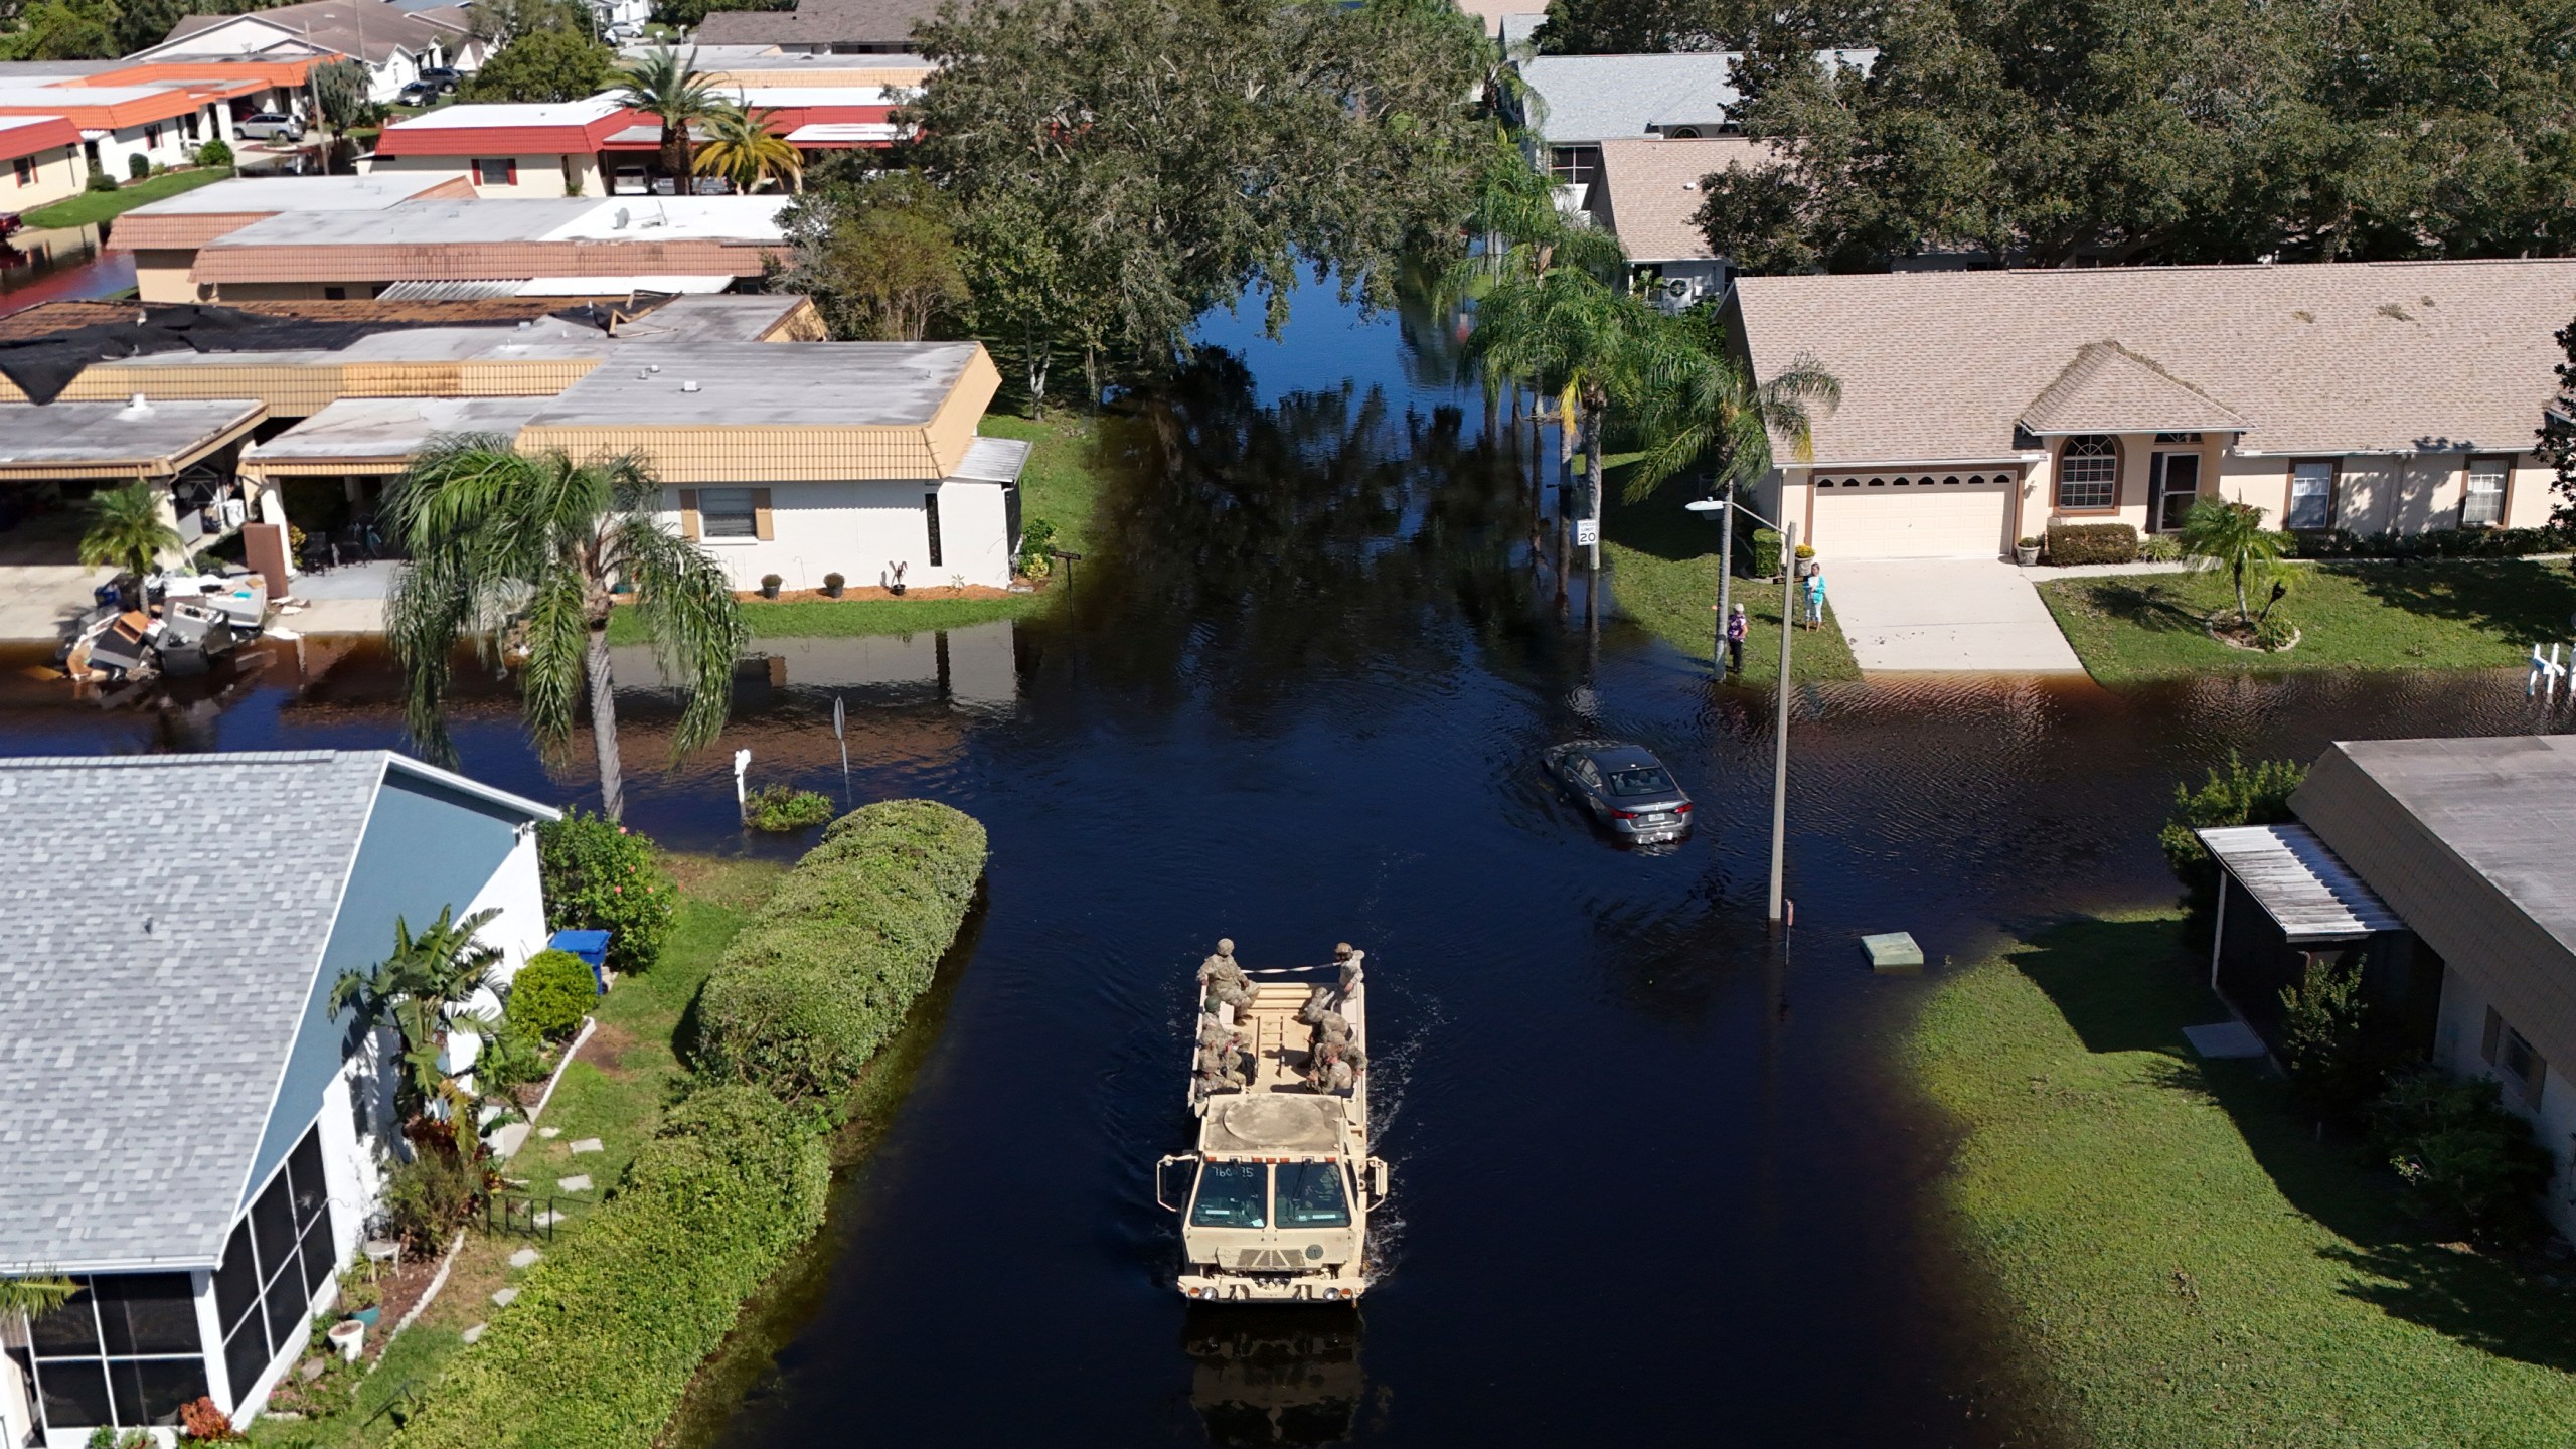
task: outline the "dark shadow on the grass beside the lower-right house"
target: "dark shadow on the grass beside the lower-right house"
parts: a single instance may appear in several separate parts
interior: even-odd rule
[[[2161,1052],[2146,1080],[2228,1114],[2257,1165],[2342,1243],[2342,1294],[2463,1346],[2576,1372],[2576,1263],[2473,1253],[2403,1209],[2396,1176],[2354,1127],[2318,1124],[2267,1060],[2200,1060],[2184,1026],[2228,1016],[2177,920],[2071,920],[2032,936],[2014,967],[2048,993],[2087,1052]],[[2555,1281],[2553,1281],[2555,1279]],[[2566,1281],[2568,1287],[2558,1287]]]

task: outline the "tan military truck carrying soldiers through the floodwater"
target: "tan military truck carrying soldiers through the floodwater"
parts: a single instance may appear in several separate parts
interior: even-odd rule
[[[1221,957],[1231,969],[1231,944]],[[1154,1201],[1180,1214],[1180,1292],[1193,1302],[1358,1302],[1368,1214],[1388,1191],[1386,1163],[1368,1155],[1360,951],[1327,967],[1236,972],[1231,993],[1224,980],[1200,972],[1188,1078],[1198,1150],[1154,1168]],[[1358,1070],[1332,1070],[1337,1057]],[[1177,1204],[1164,1191],[1175,1168],[1190,1168]]]

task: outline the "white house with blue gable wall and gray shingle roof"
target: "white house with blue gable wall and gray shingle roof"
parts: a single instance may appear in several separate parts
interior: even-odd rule
[[[0,1444],[258,1415],[399,1129],[332,985],[443,908],[515,972],[554,817],[386,750],[0,761],[0,1274],[82,1284],[0,1325]]]

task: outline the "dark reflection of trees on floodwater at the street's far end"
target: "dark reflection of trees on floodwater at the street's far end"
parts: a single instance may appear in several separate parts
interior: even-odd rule
[[[1113,562],[1077,585],[1082,668],[1146,699],[1260,712],[1363,673],[1450,676],[1458,629],[1535,632],[1520,480],[1458,407],[1399,413],[1378,387],[1262,407],[1211,348],[1105,420],[1095,464],[1113,482],[1092,554]]]

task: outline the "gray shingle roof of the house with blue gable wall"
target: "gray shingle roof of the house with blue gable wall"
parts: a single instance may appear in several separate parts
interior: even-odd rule
[[[389,763],[0,761],[0,1271],[222,1256]]]

